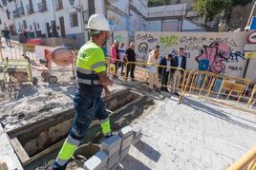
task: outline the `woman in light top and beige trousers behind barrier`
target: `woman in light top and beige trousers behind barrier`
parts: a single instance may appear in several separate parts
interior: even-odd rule
[[[160,80],[159,80],[159,58],[160,58],[160,49],[155,48],[149,53],[148,56],[148,71],[149,71],[149,91],[152,91],[154,85],[156,86],[156,91],[160,92]]]

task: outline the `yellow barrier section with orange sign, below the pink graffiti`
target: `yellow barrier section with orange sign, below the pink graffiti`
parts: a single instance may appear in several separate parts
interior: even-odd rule
[[[245,105],[255,103],[255,91],[255,85],[250,80],[218,75],[209,71],[191,70],[188,73],[182,96],[196,95],[245,109]],[[232,103],[232,100],[236,103]],[[249,110],[249,112],[255,111]]]

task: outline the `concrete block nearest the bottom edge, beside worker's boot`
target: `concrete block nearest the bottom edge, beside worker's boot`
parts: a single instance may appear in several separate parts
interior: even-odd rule
[[[83,167],[85,170],[102,170],[102,168],[106,168],[107,161],[107,154],[102,151],[98,151],[91,159],[84,162]]]

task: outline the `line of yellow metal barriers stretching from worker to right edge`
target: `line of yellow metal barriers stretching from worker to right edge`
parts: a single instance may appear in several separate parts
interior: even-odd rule
[[[150,86],[150,74],[155,72],[158,75],[158,81],[153,81],[156,87],[166,87],[172,92],[180,93],[182,102],[184,96],[196,95],[200,98],[205,98],[220,104],[227,104],[233,107],[246,109],[246,106],[255,104],[256,102],[256,85],[242,78],[235,78],[215,74],[209,71],[200,70],[183,70],[173,66],[150,66],[145,62],[124,62],[116,60],[114,65],[111,59],[107,59],[109,64],[109,73],[116,77],[121,77],[124,82],[128,80],[136,80]],[[134,77],[127,74],[127,70],[135,66]],[[121,71],[123,68],[123,72]],[[153,67],[153,70],[151,69]],[[170,69],[170,74],[166,78],[163,69]],[[176,74],[180,75],[180,80],[177,81]],[[167,79],[167,81],[163,81]],[[166,83],[163,83],[166,82]],[[151,85],[152,87],[152,85]],[[235,101],[235,103],[234,103]],[[249,111],[253,112],[253,111]]]

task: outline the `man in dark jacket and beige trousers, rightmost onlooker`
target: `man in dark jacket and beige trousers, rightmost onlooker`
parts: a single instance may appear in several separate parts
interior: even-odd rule
[[[174,88],[174,94],[177,96],[180,96],[178,93],[179,83],[181,81],[181,74],[183,73],[183,70],[186,68],[186,58],[184,56],[184,49],[182,47],[179,47],[177,56],[174,57],[174,66],[178,67],[178,69],[175,70],[173,75],[173,88]]]

